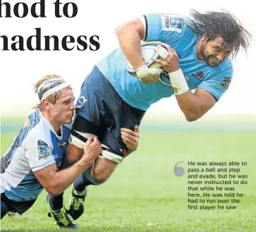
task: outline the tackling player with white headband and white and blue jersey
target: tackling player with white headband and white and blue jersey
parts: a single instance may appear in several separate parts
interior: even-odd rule
[[[1,219],[7,212],[23,214],[45,188],[59,195],[90,167],[102,152],[96,136],[87,141],[82,159],[58,171],[66,152],[75,111],[74,94],[58,75],[47,75],[35,84],[40,103],[30,114],[6,154],[1,157]],[[62,207],[61,226],[78,228]]]

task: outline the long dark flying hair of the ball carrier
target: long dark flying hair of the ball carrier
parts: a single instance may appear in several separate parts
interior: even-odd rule
[[[224,44],[222,45],[228,44],[233,48],[232,57],[236,57],[240,47],[247,54],[251,35],[243,28],[236,16],[228,11],[200,13],[191,10],[190,14],[192,17],[186,20],[186,24],[195,34],[199,36],[205,34],[207,41],[223,37]]]

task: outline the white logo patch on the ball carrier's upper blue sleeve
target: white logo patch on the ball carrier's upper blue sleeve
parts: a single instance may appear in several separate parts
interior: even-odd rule
[[[183,28],[183,18],[177,15],[164,15],[161,16],[162,29],[166,31],[180,32]]]

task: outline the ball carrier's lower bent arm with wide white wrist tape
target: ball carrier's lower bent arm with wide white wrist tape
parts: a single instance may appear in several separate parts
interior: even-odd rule
[[[219,100],[221,94],[226,91],[221,83],[222,76],[232,76],[233,71],[219,74],[220,77],[212,80],[203,81],[195,90],[190,92],[183,72],[179,66],[178,54],[167,44],[162,44],[169,52],[169,56],[164,61],[154,59],[161,63],[165,71],[169,73],[171,87],[176,95],[178,105],[183,111],[187,121],[195,121],[202,117]]]

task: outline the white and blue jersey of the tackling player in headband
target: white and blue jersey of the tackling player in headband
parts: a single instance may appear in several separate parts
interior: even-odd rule
[[[57,167],[66,152],[70,126],[61,126],[57,135],[41,112],[30,114],[28,121],[1,157],[1,193],[10,200],[35,200],[43,187],[34,171],[56,162]]]

